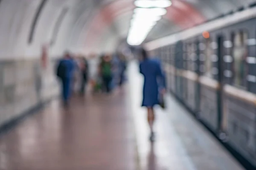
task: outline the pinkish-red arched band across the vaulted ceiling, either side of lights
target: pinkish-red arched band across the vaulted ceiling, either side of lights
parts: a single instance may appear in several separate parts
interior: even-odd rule
[[[132,11],[134,0],[116,0],[103,7],[93,18],[90,28],[85,37],[86,47],[92,47],[96,39],[101,36],[102,31],[109,26],[116,17],[125,12]],[[172,0],[172,6],[166,8],[166,19],[174,22],[182,29],[203,23],[206,19],[192,5],[182,0]]]

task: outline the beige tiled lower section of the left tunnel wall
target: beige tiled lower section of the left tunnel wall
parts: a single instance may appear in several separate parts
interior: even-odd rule
[[[0,127],[59,94],[54,63],[38,59],[0,61]]]

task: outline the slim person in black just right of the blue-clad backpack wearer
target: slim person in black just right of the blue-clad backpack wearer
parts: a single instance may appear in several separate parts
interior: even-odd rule
[[[81,90],[80,94],[83,96],[84,91],[86,89],[86,84],[88,81],[88,62],[87,59],[82,57],[81,58]]]

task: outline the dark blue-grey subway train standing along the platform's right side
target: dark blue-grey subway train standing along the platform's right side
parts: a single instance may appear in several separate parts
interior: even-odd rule
[[[256,8],[145,43],[168,90],[233,152],[256,167]]]

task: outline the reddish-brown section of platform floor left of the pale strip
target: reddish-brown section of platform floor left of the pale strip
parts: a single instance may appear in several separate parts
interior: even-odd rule
[[[0,170],[135,170],[125,93],[57,101],[0,137]]]

